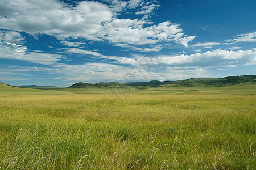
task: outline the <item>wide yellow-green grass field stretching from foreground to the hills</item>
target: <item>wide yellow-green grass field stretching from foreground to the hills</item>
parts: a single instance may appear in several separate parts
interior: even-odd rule
[[[2,169],[256,169],[256,88],[0,84]]]

